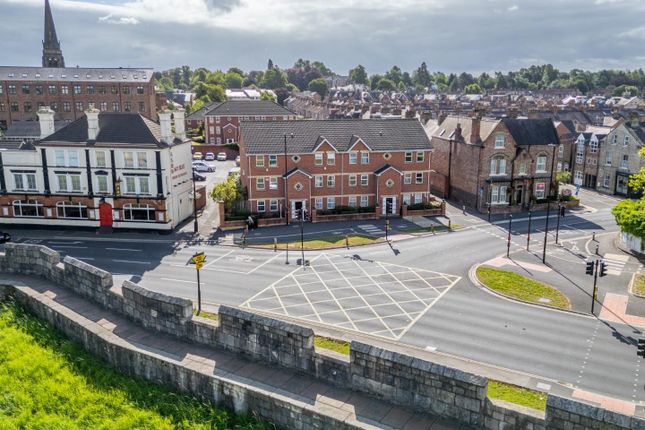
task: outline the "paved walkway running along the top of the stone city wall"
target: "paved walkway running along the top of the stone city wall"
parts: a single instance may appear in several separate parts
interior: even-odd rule
[[[361,429],[459,429],[443,418],[394,407],[364,394],[334,387],[302,374],[242,359],[234,354],[199,346],[148,331],[132,321],[106,311],[48,281],[0,274],[0,283],[13,285],[94,332],[109,332],[115,342],[125,342],[141,352],[181,363],[220,378],[275,393],[294,404],[333,416]]]

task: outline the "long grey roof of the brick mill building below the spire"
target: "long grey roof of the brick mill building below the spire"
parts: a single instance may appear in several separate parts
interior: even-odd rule
[[[153,69],[0,66],[0,81],[140,82],[152,79]]]

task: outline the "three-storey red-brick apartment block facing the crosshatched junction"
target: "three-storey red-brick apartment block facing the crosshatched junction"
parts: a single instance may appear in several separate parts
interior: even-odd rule
[[[286,151],[285,151],[286,141]],[[430,200],[431,146],[417,120],[248,122],[241,181],[253,212],[362,207],[398,214]]]

